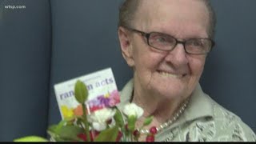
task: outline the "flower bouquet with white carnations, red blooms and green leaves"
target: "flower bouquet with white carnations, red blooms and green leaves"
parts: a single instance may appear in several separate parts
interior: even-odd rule
[[[82,106],[80,115],[70,115],[57,125],[50,126],[47,130],[50,140],[26,136],[14,142],[138,142],[140,133],[135,123],[144,112],[141,107],[129,103],[122,111],[113,106],[89,113],[86,109],[88,95],[86,85],[78,80],[74,86],[74,96]],[[150,125],[150,122],[152,117],[146,118],[140,129]],[[154,142],[156,131],[152,127],[145,141]]]

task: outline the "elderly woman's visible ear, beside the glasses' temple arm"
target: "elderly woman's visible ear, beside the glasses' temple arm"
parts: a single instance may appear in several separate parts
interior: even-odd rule
[[[133,46],[129,31],[122,26],[118,27],[118,38],[122,50],[122,57],[125,58],[127,64],[131,67],[134,66]]]

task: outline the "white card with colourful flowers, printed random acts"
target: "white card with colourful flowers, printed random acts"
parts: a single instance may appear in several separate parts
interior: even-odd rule
[[[63,118],[82,115],[82,105],[74,98],[74,85],[78,80],[86,84],[89,97],[86,101],[87,112],[112,107],[120,102],[118,88],[111,68],[82,75],[54,85],[58,107]]]

